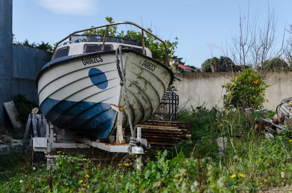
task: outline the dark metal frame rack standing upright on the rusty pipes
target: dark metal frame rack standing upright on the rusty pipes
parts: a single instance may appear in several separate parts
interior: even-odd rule
[[[166,90],[161,99],[160,107],[152,115],[154,120],[175,121],[178,113],[179,96],[173,90]]]

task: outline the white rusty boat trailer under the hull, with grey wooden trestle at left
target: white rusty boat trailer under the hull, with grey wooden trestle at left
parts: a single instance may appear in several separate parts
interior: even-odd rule
[[[119,111],[119,115],[122,111]],[[30,139],[29,147],[25,147],[25,141],[27,138],[29,127],[32,123],[32,134]],[[121,120],[118,119],[118,123],[121,123]],[[119,125],[119,124],[118,124]],[[25,136],[22,141],[23,150],[33,150],[33,159],[34,154],[45,154],[47,157],[47,165],[55,166],[52,164],[55,162],[54,158],[56,157],[56,148],[98,148],[108,152],[121,152],[127,153],[129,144],[125,144],[125,141],[130,141],[126,137],[124,139],[124,129],[118,127],[116,136],[110,136],[107,139],[107,142],[103,139],[90,139],[83,136],[78,136],[77,131],[72,131],[69,129],[59,129],[55,125],[49,123],[43,115],[37,115],[30,113],[27,127],[25,130]],[[142,154],[144,154],[143,148],[140,146],[142,143],[147,145],[147,140],[141,138],[141,127],[136,127],[137,131],[137,145],[133,146],[131,149],[131,154],[136,156],[137,169],[141,170],[141,161]],[[40,137],[39,137],[40,135]],[[33,160],[34,162],[34,160]],[[48,168],[49,169],[49,168]]]

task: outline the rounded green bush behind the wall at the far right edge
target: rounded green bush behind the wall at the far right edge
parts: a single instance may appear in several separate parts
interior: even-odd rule
[[[291,67],[280,58],[273,58],[266,60],[262,64],[263,68],[267,71],[291,71]]]

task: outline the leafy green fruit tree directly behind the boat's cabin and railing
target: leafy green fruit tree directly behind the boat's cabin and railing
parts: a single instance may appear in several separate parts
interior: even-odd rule
[[[112,17],[106,17],[105,18],[107,20],[107,22],[109,23],[114,23],[114,20]],[[94,27],[94,26],[92,26]],[[147,28],[148,31],[150,31],[151,33],[153,32],[152,29]],[[105,34],[105,29],[92,29],[89,31],[84,32],[84,34],[101,34],[104,35]],[[132,39],[136,39],[139,40],[140,42],[142,42],[142,34],[141,31],[135,31],[132,29],[129,29],[127,31],[120,31],[118,32],[118,27],[117,26],[110,26],[108,28],[107,31],[107,35],[109,36],[119,36],[119,37],[124,37],[124,38],[132,38]],[[145,47],[149,48],[152,52],[152,57],[154,59],[159,60],[162,63],[166,63],[166,55],[165,55],[165,48],[163,43],[161,43],[160,41],[158,41],[156,38],[154,38],[153,36],[151,36],[148,33],[145,33],[144,35],[144,41],[145,41]],[[177,44],[178,44],[178,38],[175,37],[175,41],[171,42],[169,40],[165,40],[166,43],[166,47],[168,49],[168,59],[170,60],[175,52],[175,49],[177,48]],[[168,65],[168,64],[166,64]]]

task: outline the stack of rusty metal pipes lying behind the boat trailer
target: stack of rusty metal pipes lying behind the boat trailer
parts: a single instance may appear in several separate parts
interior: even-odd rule
[[[189,122],[168,120],[147,120],[136,127],[141,127],[141,134],[148,144],[160,148],[169,148],[186,140],[190,134]],[[131,135],[130,128],[125,128],[125,136]]]

